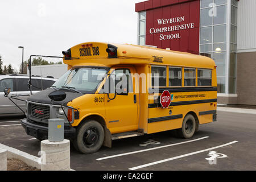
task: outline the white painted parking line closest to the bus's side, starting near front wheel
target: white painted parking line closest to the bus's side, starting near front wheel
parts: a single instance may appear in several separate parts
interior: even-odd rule
[[[205,138],[209,138],[209,137],[202,137],[202,138],[197,138],[197,139],[194,139],[194,140],[188,140],[188,141],[185,141],[185,142],[167,144],[166,146],[148,148],[148,149],[138,150],[138,151],[134,151],[134,152],[127,152],[127,153],[124,153],[124,154],[111,155],[111,156],[107,156],[107,157],[104,157],[104,158],[98,158],[98,159],[96,159],[96,160],[104,160],[104,159],[116,158],[116,157],[123,156],[123,155],[136,154],[136,153],[139,153],[139,152],[146,152],[146,151],[150,151],[150,150],[156,150],[156,149],[159,149],[159,148],[176,146],[176,145],[178,145],[178,144],[184,144],[184,143],[189,143],[189,142],[195,142],[195,141],[197,141],[197,140],[202,140],[202,139],[205,139]]]

